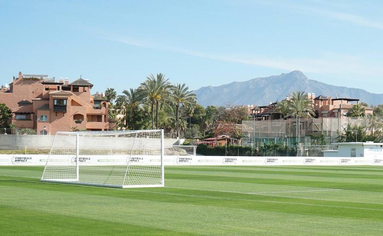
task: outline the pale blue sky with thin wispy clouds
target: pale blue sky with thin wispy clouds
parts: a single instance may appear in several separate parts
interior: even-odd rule
[[[0,84],[82,75],[120,93],[150,73],[198,89],[301,70],[383,93],[381,12],[379,0],[3,0]]]

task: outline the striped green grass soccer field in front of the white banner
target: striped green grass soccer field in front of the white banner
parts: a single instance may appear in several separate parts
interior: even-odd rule
[[[165,166],[165,186],[39,182],[0,166],[0,234],[382,235],[383,166]]]

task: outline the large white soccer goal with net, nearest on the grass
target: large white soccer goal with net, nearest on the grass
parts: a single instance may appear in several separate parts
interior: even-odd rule
[[[164,131],[57,132],[41,181],[164,186]]]

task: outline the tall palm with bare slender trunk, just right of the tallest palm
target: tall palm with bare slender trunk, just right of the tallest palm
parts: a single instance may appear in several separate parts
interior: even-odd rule
[[[180,106],[191,106],[196,103],[196,95],[189,91],[189,87],[185,85],[185,83],[173,85],[171,88],[171,99],[175,104],[175,121],[176,121],[176,130],[177,130],[177,138],[179,137],[179,129],[178,129],[178,109]]]

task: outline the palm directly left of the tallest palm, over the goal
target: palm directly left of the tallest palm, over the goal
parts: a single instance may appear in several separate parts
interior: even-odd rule
[[[133,88],[131,88],[129,91],[124,90],[122,91],[122,93],[124,95],[118,96],[117,98],[118,100],[116,100],[118,101],[117,104],[119,104],[120,107],[124,107],[126,117],[128,116],[128,110],[129,110],[130,111],[129,115],[133,119],[134,111],[137,111],[137,109],[139,109],[139,106],[142,104],[142,101],[143,101],[142,95],[141,93],[137,91],[137,89],[134,90]],[[133,126],[131,128],[133,129]]]

